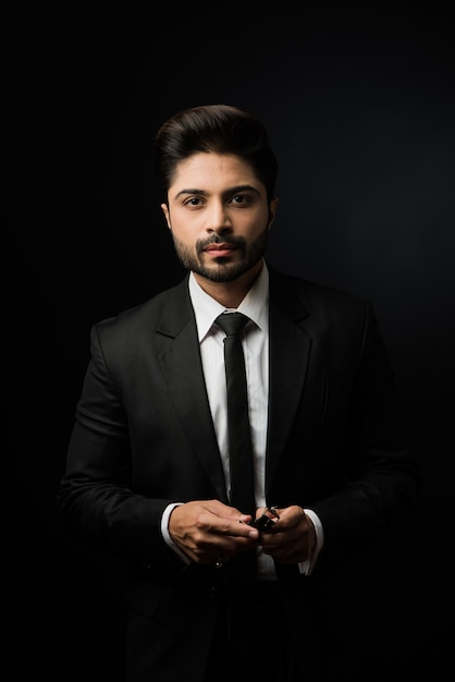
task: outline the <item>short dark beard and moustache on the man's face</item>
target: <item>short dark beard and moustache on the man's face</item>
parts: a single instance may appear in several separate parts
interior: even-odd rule
[[[267,242],[269,238],[269,228],[267,227],[257,238],[255,242],[247,243],[243,236],[211,236],[207,240],[198,240],[195,249],[190,249],[186,244],[174,238],[172,239],[176,255],[182,265],[212,282],[232,282],[238,277],[250,270],[265,255]],[[241,260],[230,263],[231,257],[214,258],[216,265],[207,266],[204,264],[205,248],[209,244],[235,244],[236,254],[242,253]],[[218,266],[218,267],[217,267]]]

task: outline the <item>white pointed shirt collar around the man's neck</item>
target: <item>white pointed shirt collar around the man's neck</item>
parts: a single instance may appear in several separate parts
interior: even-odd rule
[[[193,272],[188,279],[189,296],[196,316],[199,342],[208,334],[216,318],[226,308],[209,296],[197,283]],[[237,310],[249,317],[261,330],[267,329],[269,310],[269,270],[266,263]]]

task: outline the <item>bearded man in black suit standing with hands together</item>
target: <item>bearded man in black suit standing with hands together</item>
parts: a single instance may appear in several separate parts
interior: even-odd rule
[[[188,276],[94,326],[63,519],[127,561],[127,682],[341,680],[324,580],[418,495],[372,307],[266,263],[278,163],[256,118],[184,110],[156,154]],[[231,503],[217,318],[232,312],[248,318],[254,510]]]

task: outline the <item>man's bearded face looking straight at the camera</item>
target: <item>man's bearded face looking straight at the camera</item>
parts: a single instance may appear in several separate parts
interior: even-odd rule
[[[196,275],[230,282],[263,256],[278,199],[233,155],[198,153],[181,161],[161,205],[179,258]]]

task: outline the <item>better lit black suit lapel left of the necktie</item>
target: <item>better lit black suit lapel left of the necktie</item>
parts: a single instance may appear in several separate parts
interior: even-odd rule
[[[224,474],[210,413],[200,360],[196,321],[187,280],[170,292],[157,326],[159,362],[187,439],[213,484],[216,496],[226,501]]]

